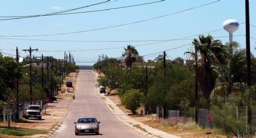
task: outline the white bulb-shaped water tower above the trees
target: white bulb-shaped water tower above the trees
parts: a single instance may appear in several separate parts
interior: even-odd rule
[[[234,19],[228,19],[223,22],[223,28],[229,33],[229,42],[233,41],[233,32],[239,28],[239,22]]]

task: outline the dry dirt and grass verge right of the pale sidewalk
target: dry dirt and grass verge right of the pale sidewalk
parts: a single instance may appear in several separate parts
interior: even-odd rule
[[[132,115],[130,110],[125,109],[123,105],[120,104],[120,98],[115,91],[111,92],[108,96],[116,105],[123,110],[127,115],[130,115],[131,118],[136,121],[142,122],[143,124],[149,125],[158,130],[166,131],[170,134],[175,134],[180,137],[225,137],[217,134],[217,130],[202,129],[195,124],[194,121],[188,120],[184,121],[184,118],[175,119],[175,120],[166,120],[159,119],[155,115]],[[140,114],[140,110],[137,110],[137,113]],[[186,123],[184,123],[186,122]],[[211,134],[205,134],[211,133]]]

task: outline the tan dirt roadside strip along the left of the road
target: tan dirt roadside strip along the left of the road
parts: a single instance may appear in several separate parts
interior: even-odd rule
[[[65,82],[67,80],[72,81],[74,88],[70,88],[67,92],[67,87]],[[11,127],[19,128],[33,128],[39,130],[49,130],[51,132],[54,128],[60,124],[67,115],[69,110],[69,104],[72,102],[72,94],[76,88],[76,73],[70,73],[69,76],[65,78],[64,85],[62,86],[63,92],[58,92],[57,102],[48,103],[46,110],[43,110],[42,120],[29,118],[22,119],[20,122],[11,122]],[[6,127],[7,122],[0,122],[0,127]],[[31,137],[46,137],[47,135],[36,135]],[[0,137],[15,137],[0,134]]]

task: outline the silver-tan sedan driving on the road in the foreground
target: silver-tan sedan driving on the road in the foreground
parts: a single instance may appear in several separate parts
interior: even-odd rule
[[[80,133],[95,133],[99,134],[99,123],[94,117],[79,118],[75,124],[75,135]]]

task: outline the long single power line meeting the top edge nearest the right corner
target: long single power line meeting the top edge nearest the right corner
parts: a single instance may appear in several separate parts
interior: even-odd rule
[[[166,16],[171,16],[171,15],[173,15],[173,14],[183,13],[183,12],[185,12],[185,11],[193,10],[193,9],[195,9],[195,8],[204,7],[204,6],[206,6],[206,5],[214,4],[214,3],[219,2],[219,1],[220,1],[220,0],[217,0],[217,1],[214,1],[214,2],[207,3],[207,4],[203,4],[203,5],[199,5],[199,6],[196,6],[196,7],[188,8],[188,9],[186,9],[186,10],[177,11],[177,12],[175,12],[175,13],[165,14],[165,15],[163,15],[163,16],[152,17],[152,18],[150,18],[150,19],[139,20],[139,21],[131,22],[131,23],[124,23],[124,24],[121,24],[121,25],[107,26],[107,27],[104,27],[104,28],[89,29],[89,30],[75,31],[75,32],[63,32],[63,33],[58,33],[58,34],[43,34],[43,35],[0,35],[0,37],[43,37],[43,36],[52,36],[52,35],[66,35],[66,34],[76,34],[76,33],[81,33],[81,32],[99,31],[99,30],[102,30],[102,29],[116,28],[116,27],[120,27],[120,26],[132,25],[132,24],[135,24],[135,23],[147,22],[147,21],[149,21],[149,20],[155,20],[155,19],[158,19],[158,18],[162,18],[162,17],[166,17]]]

